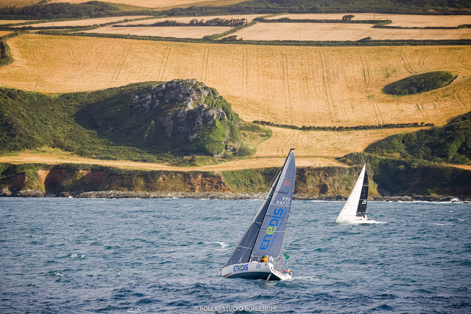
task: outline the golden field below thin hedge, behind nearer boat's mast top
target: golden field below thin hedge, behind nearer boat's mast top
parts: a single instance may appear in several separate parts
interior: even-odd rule
[[[361,152],[368,145],[393,134],[413,132],[421,128],[382,129],[363,131],[300,131],[271,127],[273,136],[257,146],[256,156],[286,155],[296,140],[296,156],[342,157]]]

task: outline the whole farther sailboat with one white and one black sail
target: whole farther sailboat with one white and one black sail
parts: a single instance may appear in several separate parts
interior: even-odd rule
[[[366,173],[366,163],[370,155],[366,158],[365,165],[361,169],[357,182],[353,186],[353,190],[347,199],[345,205],[335,219],[338,223],[362,224],[376,222],[366,214],[366,205],[368,202],[368,174]],[[373,216],[373,213],[371,213]]]

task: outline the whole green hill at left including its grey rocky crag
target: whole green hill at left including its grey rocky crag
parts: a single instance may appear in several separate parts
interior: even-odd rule
[[[243,122],[231,105],[215,89],[194,82],[50,95],[1,88],[0,151],[52,146],[98,159],[148,162],[226,148],[228,155],[250,153],[239,133]]]

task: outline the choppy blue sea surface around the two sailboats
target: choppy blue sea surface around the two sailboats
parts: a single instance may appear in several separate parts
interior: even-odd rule
[[[1,198],[0,313],[471,313],[470,204],[293,201],[294,278],[219,277],[260,203]]]

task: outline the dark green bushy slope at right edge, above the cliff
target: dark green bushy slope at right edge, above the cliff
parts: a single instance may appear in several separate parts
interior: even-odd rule
[[[365,152],[407,161],[471,163],[471,113],[443,127],[391,135],[370,145]]]

